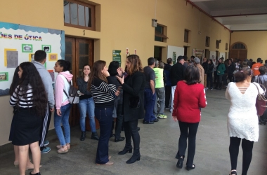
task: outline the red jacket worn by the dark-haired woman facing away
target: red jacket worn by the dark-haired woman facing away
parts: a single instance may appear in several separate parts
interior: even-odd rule
[[[206,107],[206,94],[204,85],[188,85],[183,80],[178,81],[174,93],[174,111],[172,116],[176,116],[181,122],[200,122],[200,108]]]

